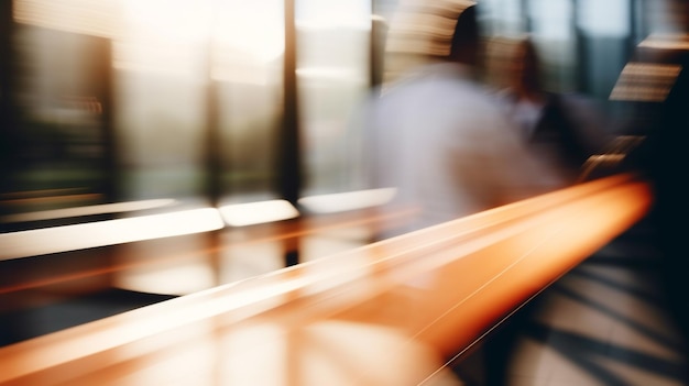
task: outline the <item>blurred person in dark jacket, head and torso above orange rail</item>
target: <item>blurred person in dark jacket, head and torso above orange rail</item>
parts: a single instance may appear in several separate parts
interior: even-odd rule
[[[584,163],[611,142],[602,108],[582,95],[546,90],[529,37],[494,38],[491,47],[489,81],[497,79],[499,103],[523,141],[568,184],[580,180]]]

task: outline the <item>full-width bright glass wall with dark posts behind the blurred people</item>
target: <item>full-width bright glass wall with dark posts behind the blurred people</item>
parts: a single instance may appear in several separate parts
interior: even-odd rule
[[[13,33],[0,43],[13,59],[8,66],[9,56],[0,58],[0,86],[12,95],[1,99],[2,111],[12,111],[3,122],[13,123],[2,132],[9,150],[2,159],[12,165],[2,169],[2,224],[20,230],[134,217],[141,208],[285,198],[298,207],[286,196],[362,189],[354,118],[380,84],[385,29],[400,2],[6,2],[12,18],[2,23]],[[532,35],[550,90],[601,100],[632,47],[652,23],[664,25],[658,15],[670,9],[649,8],[654,16],[647,16],[647,7],[642,0],[479,2],[486,37]],[[68,220],[45,212],[121,202],[138,209]],[[259,271],[283,264],[282,245],[265,251],[273,251],[261,252],[272,262],[256,263]],[[227,257],[222,264],[236,267],[228,263],[232,254],[255,255],[236,249],[212,264]],[[238,276],[226,269],[225,277]]]

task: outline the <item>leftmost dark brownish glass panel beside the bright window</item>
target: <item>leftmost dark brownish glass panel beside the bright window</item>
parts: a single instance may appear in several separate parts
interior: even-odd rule
[[[0,141],[10,167],[1,168],[0,216],[8,218],[0,225],[113,200],[112,23],[102,14],[119,8],[99,4],[78,18],[59,1],[8,3],[0,11],[8,32]]]

